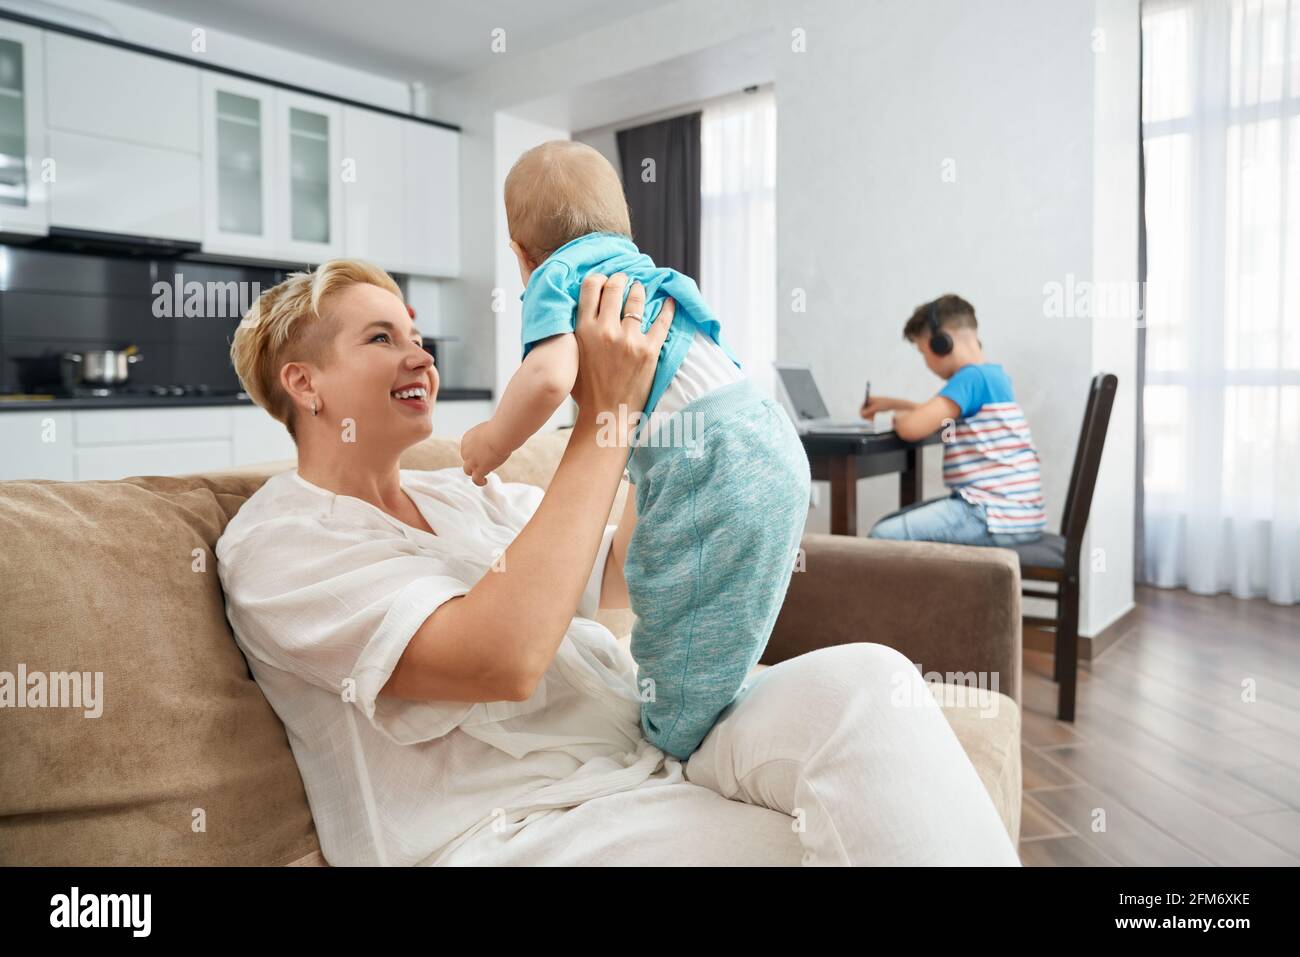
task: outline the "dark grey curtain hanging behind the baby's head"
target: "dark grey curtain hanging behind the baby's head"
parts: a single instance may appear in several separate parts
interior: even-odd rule
[[[618,140],[632,238],[655,265],[698,282],[699,113],[620,130]]]

